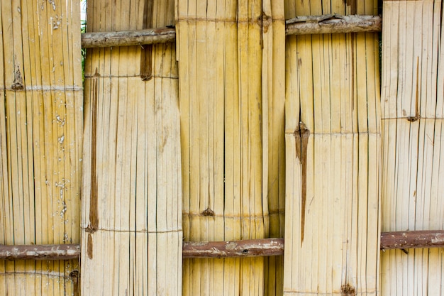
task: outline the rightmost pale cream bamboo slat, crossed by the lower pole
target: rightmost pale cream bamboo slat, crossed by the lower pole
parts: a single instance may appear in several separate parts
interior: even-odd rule
[[[442,1],[385,1],[382,231],[443,229]],[[442,295],[442,249],[382,253],[382,295]]]

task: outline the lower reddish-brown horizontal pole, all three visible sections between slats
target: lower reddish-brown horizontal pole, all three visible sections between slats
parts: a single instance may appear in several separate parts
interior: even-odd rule
[[[381,234],[381,250],[395,248],[442,248],[444,231],[394,231]],[[281,256],[284,239],[248,239],[243,241],[184,242],[183,258],[228,258]],[[79,258],[78,243],[61,245],[0,245],[0,259],[68,260]]]

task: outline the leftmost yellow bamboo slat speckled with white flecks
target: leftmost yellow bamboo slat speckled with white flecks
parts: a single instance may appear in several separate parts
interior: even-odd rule
[[[0,243],[79,243],[78,1],[0,1]],[[73,261],[0,261],[0,295],[71,295]]]

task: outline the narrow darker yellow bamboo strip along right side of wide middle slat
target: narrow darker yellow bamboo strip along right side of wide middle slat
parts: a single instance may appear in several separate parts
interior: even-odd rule
[[[284,237],[285,220],[285,21],[284,1],[262,1],[262,194],[269,226],[265,236]],[[265,295],[282,295],[284,256],[265,258]]]

